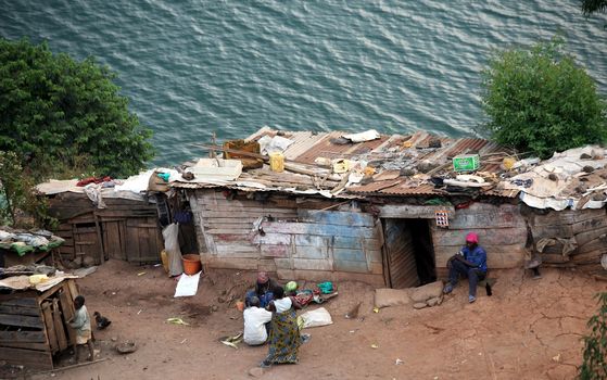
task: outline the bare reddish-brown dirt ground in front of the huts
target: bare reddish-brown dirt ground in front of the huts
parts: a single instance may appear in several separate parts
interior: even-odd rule
[[[219,337],[242,329],[242,314],[218,297],[228,297],[225,292],[233,286],[232,293],[240,292],[254,276],[214,271],[201,280],[195,296],[174,299],[176,282],[162,267],[110,261],[78,280],[89,312],[100,311],[113,321],[96,331],[99,357],[106,359],[27,377],[251,379],[249,371],[267,346],[241,344],[235,350],[219,343]],[[370,287],[339,283],[339,295],[323,305],[333,325],[305,330],[312,340],[302,346],[300,364],[274,366],[261,378],[572,379],[581,363],[580,338],[596,311],[593,295],[605,291],[606,283],[556,269],[544,269],[540,280],[522,270],[493,271],[492,277],[497,278],[493,296],[479,289],[473,304],[467,302],[466,284],[437,307],[397,306],[379,313],[372,312]],[[358,318],[345,319],[358,300]],[[169,317],[190,325],[167,324]],[[136,341],[137,352],[117,354],[114,346],[124,340]]]

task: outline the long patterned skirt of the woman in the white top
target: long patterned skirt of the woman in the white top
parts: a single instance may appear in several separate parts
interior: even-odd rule
[[[293,308],[284,313],[275,313],[268,337],[269,350],[266,364],[298,363],[301,345],[298,316]]]

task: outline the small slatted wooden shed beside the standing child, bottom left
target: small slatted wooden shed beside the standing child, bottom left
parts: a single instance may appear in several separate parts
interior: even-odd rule
[[[53,369],[53,355],[76,343],[67,325],[78,294],[74,280],[51,277],[31,289],[28,277],[18,276],[0,280],[0,360]]]

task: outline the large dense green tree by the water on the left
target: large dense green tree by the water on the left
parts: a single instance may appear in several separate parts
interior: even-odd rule
[[[0,38],[0,151],[37,179],[74,170],[124,177],[153,156],[151,131],[128,111],[93,58],[53,54],[46,42]]]

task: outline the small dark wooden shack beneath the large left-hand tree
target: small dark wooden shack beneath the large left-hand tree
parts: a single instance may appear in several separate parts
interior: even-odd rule
[[[73,267],[100,265],[109,258],[157,263],[163,250],[160,220],[167,218],[163,194],[99,188],[88,191],[77,180],[52,180],[38,190],[64,239],[60,253]],[[143,189],[146,190],[146,189]],[[87,193],[88,192],[88,193]]]

